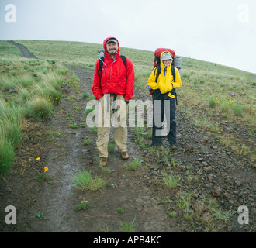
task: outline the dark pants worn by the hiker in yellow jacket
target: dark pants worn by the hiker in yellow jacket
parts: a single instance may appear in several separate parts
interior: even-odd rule
[[[167,121],[168,142],[171,146],[178,146],[176,139],[175,98],[170,98],[168,93],[161,94],[159,90],[154,90],[153,93],[152,146],[159,146],[162,143],[161,130],[163,129],[164,112]]]

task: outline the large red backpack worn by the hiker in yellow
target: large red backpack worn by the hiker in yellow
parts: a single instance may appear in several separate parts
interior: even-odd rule
[[[171,57],[173,58],[173,62],[171,64],[171,74],[173,76],[173,81],[175,81],[176,77],[175,77],[175,67],[178,68],[178,71],[180,71],[182,69],[182,58],[181,57],[176,57],[175,56],[175,51],[168,49],[168,48],[157,48],[157,50],[154,51],[154,75],[157,71],[157,76],[156,76],[156,82],[158,80],[159,74],[161,73],[161,66],[160,66],[160,57],[161,57],[161,53],[163,52],[169,52],[171,53]],[[148,86],[148,89],[150,91],[150,95],[153,94],[153,89],[151,89]],[[177,103],[177,93],[176,93],[176,89],[175,89],[175,95],[176,95],[176,103]]]

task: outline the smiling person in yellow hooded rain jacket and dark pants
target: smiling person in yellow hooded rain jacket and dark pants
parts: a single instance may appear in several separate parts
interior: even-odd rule
[[[175,81],[171,73],[172,64],[171,53],[161,53],[161,73],[157,78],[157,67],[152,71],[147,84],[153,91],[153,132],[152,146],[157,146],[158,150],[162,150],[161,130],[163,129],[164,110],[167,120],[168,142],[171,150],[178,147],[176,138],[176,122],[175,122],[175,88],[182,86],[182,80],[178,69],[175,68]]]

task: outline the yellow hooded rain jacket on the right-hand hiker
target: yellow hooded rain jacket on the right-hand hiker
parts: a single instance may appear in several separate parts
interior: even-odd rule
[[[163,52],[163,53],[167,53],[167,52]],[[175,81],[173,81],[174,78],[171,74],[172,61],[171,61],[171,64],[165,69],[164,62],[162,61],[163,53],[161,53],[161,57],[160,57],[161,73],[159,74],[157,82],[156,82],[156,77],[157,77],[157,68],[156,68],[152,71],[147,81],[147,84],[153,90],[159,89],[161,91],[161,94],[165,94],[169,92],[168,96],[171,98],[175,98],[175,95],[171,94],[171,91],[174,88],[180,88],[182,86],[182,80],[178,72],[178,69],[175,67]]]

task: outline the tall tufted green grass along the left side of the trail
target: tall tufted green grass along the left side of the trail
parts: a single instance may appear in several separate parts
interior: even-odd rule
[[[23,119],[51,116],[61,102],[67,69],[46,60],[23,59],[19,50],[5,41],[0,41],[0,54],[0,174],[4,174],[22,140]]]

